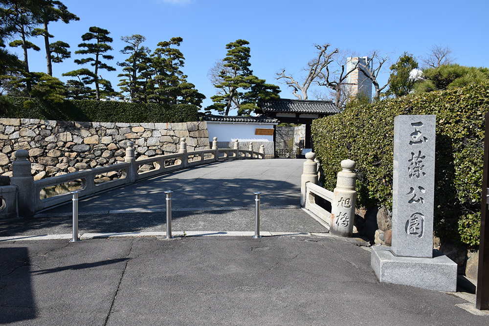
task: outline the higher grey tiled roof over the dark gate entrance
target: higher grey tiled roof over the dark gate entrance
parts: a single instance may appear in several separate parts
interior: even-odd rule
[[[264,112],[290,112],[290,113],[339,113],[331,101],[289,100],[277,99],[262,103]]]

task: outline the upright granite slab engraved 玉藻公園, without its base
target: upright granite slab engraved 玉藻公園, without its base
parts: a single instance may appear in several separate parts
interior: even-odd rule
[[[435,115],[394,118],[392,252],[433,257]]]

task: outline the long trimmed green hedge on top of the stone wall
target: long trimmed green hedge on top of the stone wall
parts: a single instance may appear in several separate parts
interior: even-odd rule
[[[117,101],[65,100],[53,103],[39,98],[0,96],[3,118],[30,118],[87,122],[199,121],[199,108],[184,104],[144,104]]]

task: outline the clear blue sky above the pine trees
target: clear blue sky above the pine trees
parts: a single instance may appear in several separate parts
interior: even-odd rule
[[[225,57],[225,45],[247,40],[251,48],[251,69],[267,83],[279,85],[282,98],[295,98],[291,88],[277,81],[276,72],[286,68],[300,79],[302,68],[315,56],[313,44],[330,43],[333,48],[355,51],[360,56],[372,50],[392,53],[392,63],[407,51],[425,55],[434,44],[448,45],[456,63],[488,66],[488,0],[63,0],[68,10],[80,17],[78,22],[53,22],[51,42],[71,45],[72,57],[53,64],[53,75],[66,81],[63,72],[81,68],[73,59],[81,35],[90,26],[108,29],[114,39],[109,62],[116,72],[101,71],[103,78],[116,87],[118,73],[127,56],[121,36],[144,35],[143,44],[151,50],[161,41],[182,37],[180,50],[185,56],[183,72],[188,81],[212,104],[216,89],[207,77],[216,60]],[[31,42],[42,48],[29,52],[31,71],[46,71],[43,40]],[[22,54],[20,48],[13,52]],[[22,55],[21,55],[22,58]],[[87,68],[90,68],[86,65]],[[380,78],[387,81],[388,67]],[[116,87],[117,88],[117,87]],[[310,99],[312,94],[309,93]],[[231,114],[236,114],[232,112]]]

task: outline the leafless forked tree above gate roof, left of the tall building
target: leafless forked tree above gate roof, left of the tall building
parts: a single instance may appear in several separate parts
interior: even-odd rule
[[[329,64],[333,62],[333,55],[335,53],[338,53],[338,49],[335,48],[333,51],[328,52],[328,48],[330,47],[330,44],[324,44],[324,45],[314,45],[316,49],[318,50],[317,52],[317,57],[312,59],[308,63],[308,68],[305,68],[304,70],[308,71],[308,74],[306,78],[304,79],[303,83],[300,84],[298,81],[296,81],[292,75],[286,75],[285,74],[285,69],[282,69],[282,72],[277,73],[277,80],[279,79],[288,79],[286,81],[286,85],[289,87],[292,87],[293,91],[292,94],[294,94],[295,97],[297,97],[299,100],[307,100],[307,91],[309,87],[311,87],[311,84],[313,82],[317,82],[318,78],[321,78],[322,76],[322,70],[326,68]],[[302,94],[298,94],[297,92],[300,91]]]

